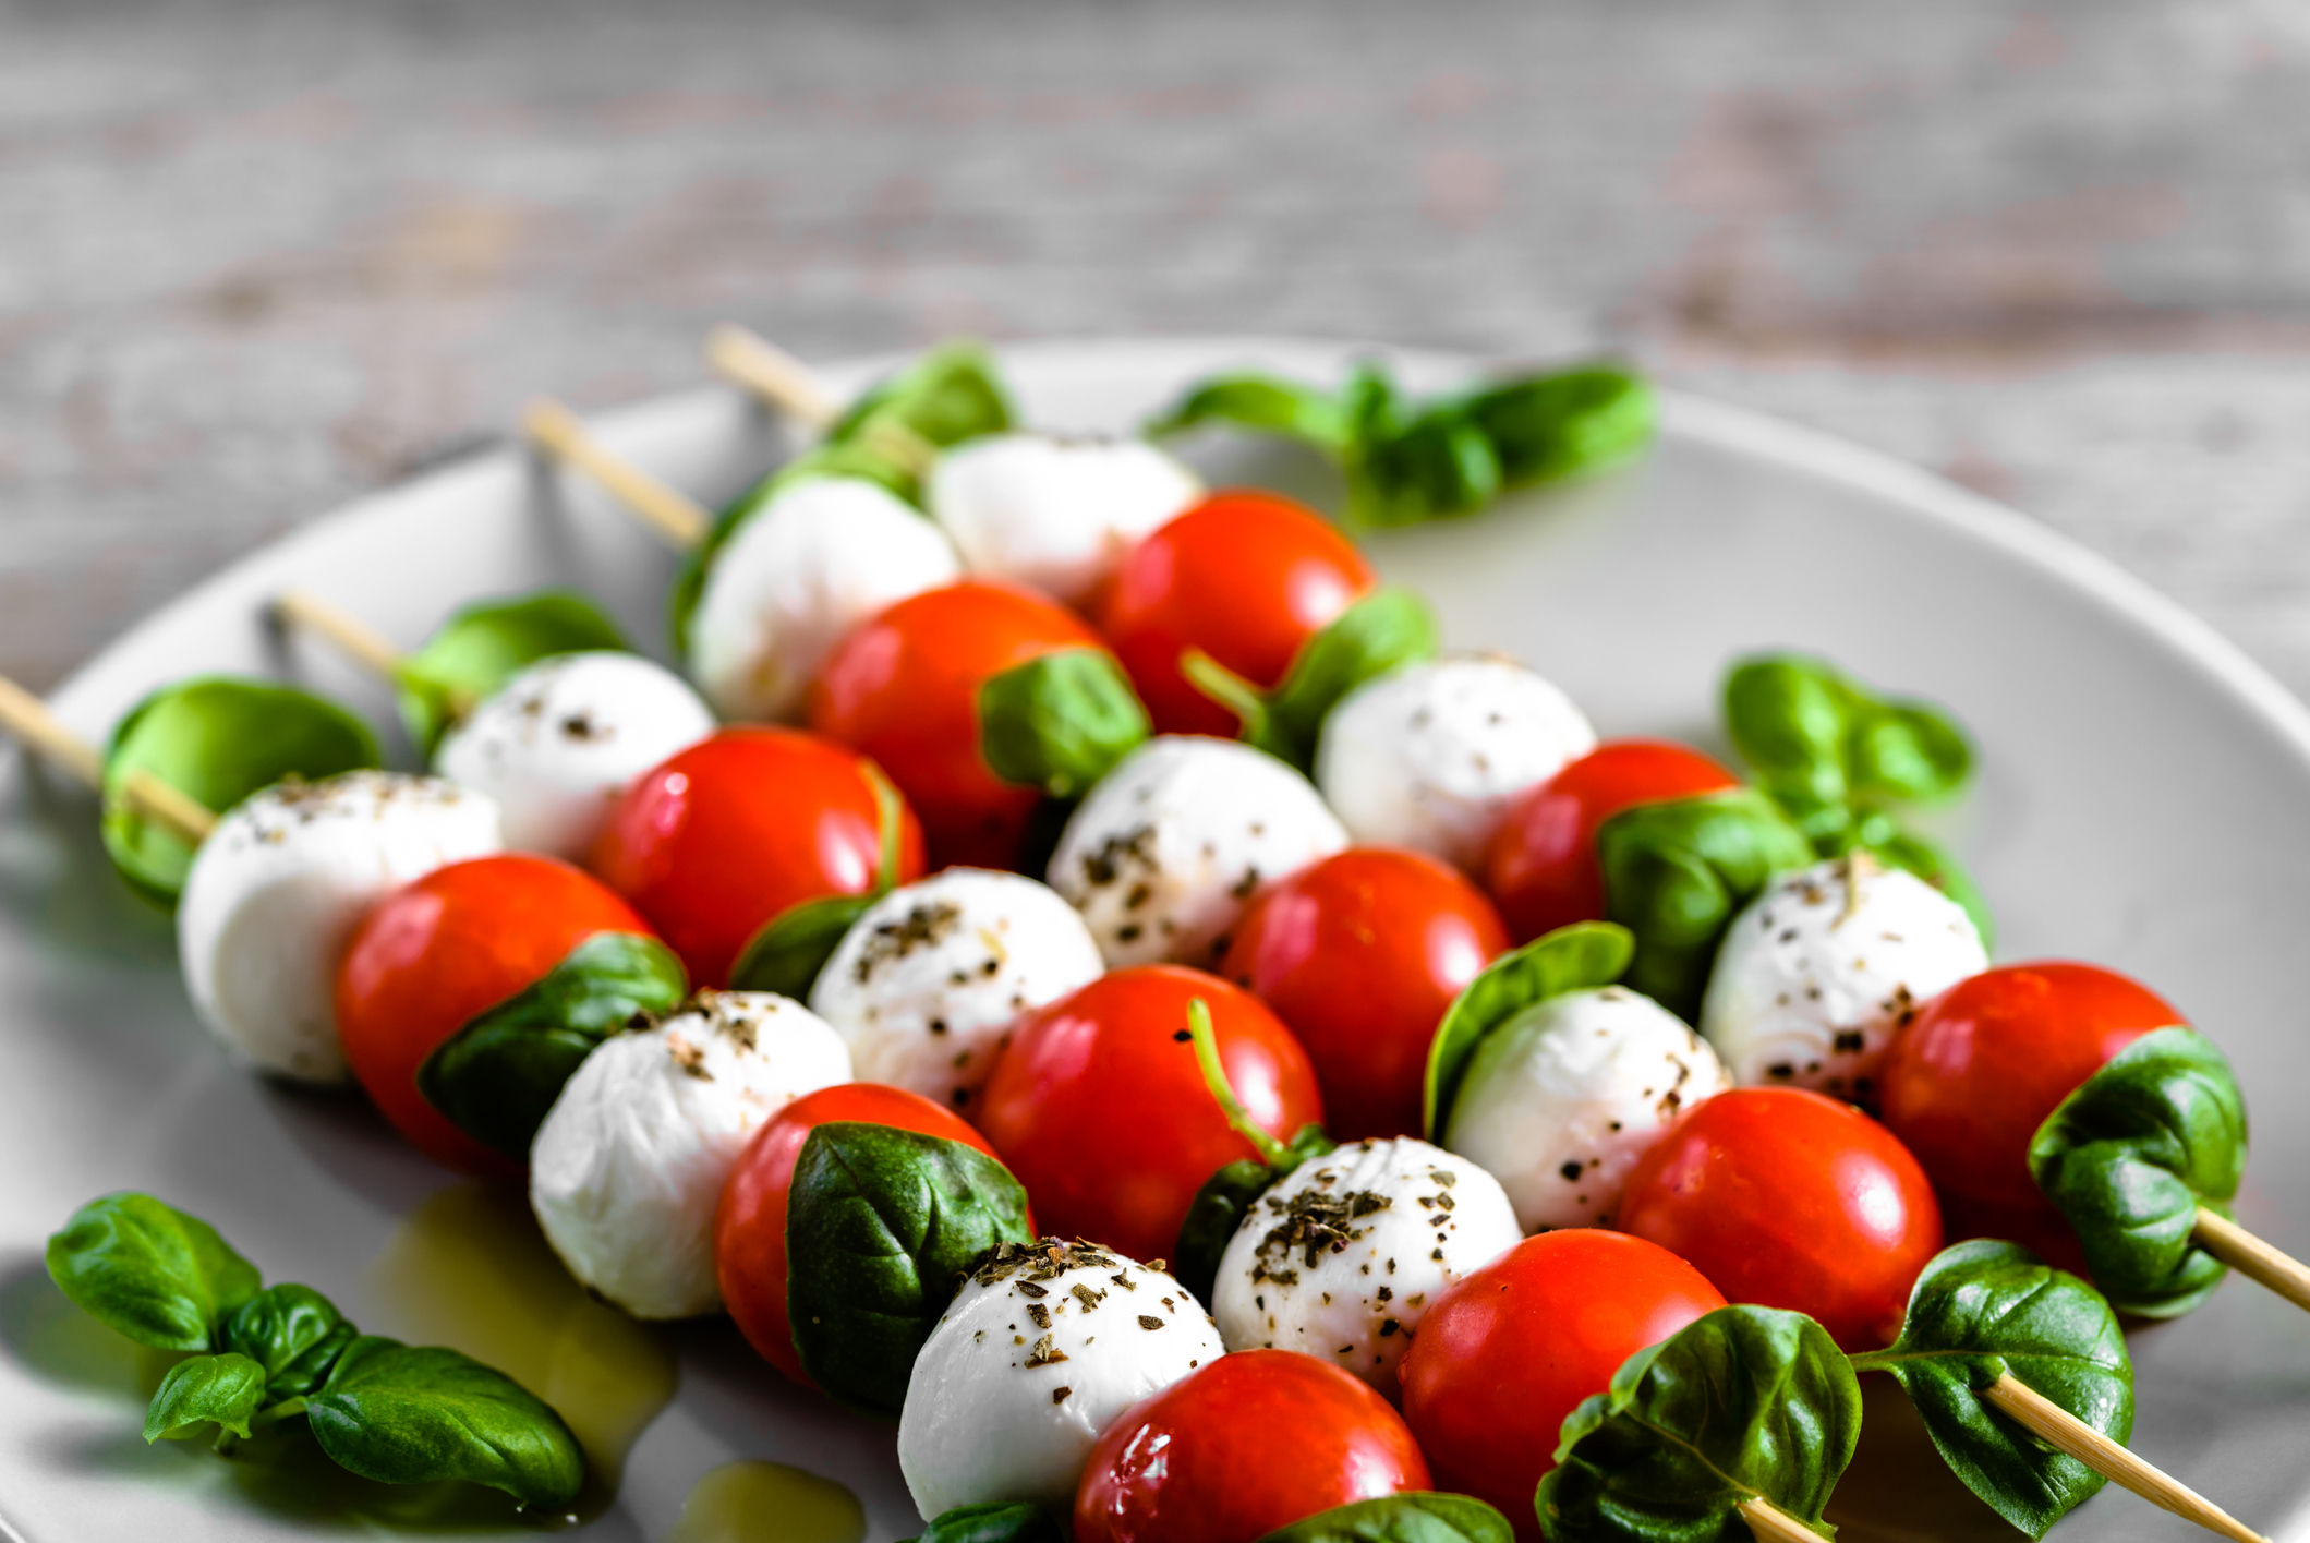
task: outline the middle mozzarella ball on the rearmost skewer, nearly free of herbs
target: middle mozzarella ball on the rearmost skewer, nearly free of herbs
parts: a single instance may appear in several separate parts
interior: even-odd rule
[[[1314,781],[1358,843],[1476,871],[1508,799],[1594,748],[1573,700],[1532,670],[1437,658],[1351,691],[1324,721]]]

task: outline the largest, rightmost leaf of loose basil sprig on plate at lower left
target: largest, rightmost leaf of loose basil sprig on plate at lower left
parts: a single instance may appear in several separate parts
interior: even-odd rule
[[[379,1483],[462,1478],[527,1506],[561,1508],[584,1483],[584,1453],[545,1402],[453,1349],[363,1335],[305,1404],[340,1467]]]

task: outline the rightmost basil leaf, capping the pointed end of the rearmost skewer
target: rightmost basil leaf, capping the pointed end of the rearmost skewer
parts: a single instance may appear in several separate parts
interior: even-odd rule
[[[2199,1206],[2229,1215],[2245,1173],[2245,1097],[2211,1039],[2160,1028],[2047,1116],[2028,1171],[2118,1312],[2181,1317],[2227,1273],[2190,1233]]]

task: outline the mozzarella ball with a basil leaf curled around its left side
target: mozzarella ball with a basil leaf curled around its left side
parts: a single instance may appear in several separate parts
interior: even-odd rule
[[[1661,1130],[1730,1086],[1707,1042],[1649,996],[1568,991],[1476,1046],[1444,1146],[1502,1183],[1525,1231],[1610,1227]]]

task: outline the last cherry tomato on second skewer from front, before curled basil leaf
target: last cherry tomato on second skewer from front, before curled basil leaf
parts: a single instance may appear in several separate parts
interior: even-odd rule
[[[1437,1481],[1538,1538],[1532,1492],[1557,1432],[1619,1363],[1723,1307],[1666,1247],[1594,1227],[1543,1231],[1453,1282],[1404,1351],[1404,1421]]]

